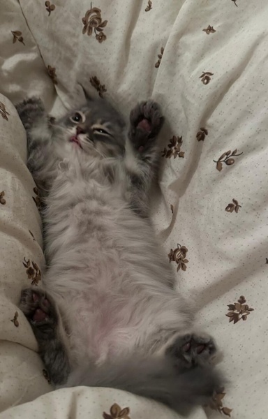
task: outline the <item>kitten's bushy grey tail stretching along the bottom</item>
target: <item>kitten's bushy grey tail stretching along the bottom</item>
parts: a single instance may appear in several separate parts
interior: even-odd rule
[[[208,404],[222,387],[223,378],[210,366],[178,372],[169,359],[129,358],[75,371],[70,374],[67,387],[75,385],[126,390],[187,414],[193,406]]]

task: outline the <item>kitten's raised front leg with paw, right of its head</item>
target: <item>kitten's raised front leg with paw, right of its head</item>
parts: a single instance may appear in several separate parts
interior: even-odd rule
[[[157,135],[164,118],[158,103],[138,103],[131,111],[128,132],[131,147],[126,147],[126,171],[130,178],[131,207],[147,216],[148,191],[158,171],[159,149]]]

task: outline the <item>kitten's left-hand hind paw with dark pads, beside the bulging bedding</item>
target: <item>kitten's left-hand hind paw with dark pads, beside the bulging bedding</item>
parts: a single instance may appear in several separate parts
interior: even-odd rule
[[[20,297],[20,309],[27,317],[36,338],[51,339],[58,323],[57,309],[45,291],[26,288]]]

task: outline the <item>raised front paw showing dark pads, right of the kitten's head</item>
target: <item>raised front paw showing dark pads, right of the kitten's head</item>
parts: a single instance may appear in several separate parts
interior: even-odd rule
[[[164,122],[160,106],[154,101],[138,103],[131,111],[128,136],[135,149],[143,151],[156,139]]]

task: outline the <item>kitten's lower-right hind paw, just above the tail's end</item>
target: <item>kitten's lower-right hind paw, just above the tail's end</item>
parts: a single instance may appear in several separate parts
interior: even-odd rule
[[[180,336],[167,349],[167,355],[177,359],[182,367],[210,363],[215,353],[216,344],[209,335]]]

